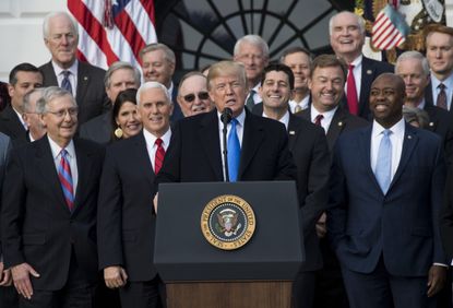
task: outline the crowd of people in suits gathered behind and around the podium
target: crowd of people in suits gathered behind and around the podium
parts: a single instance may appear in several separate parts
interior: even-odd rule
[[[15,66],[0,99],[0,307],[165,307],[158,185],[227,179],[296,181],[294,307],[452,307],[453,28],[393,67],[339,12],[334,55],[271,61],[246,35],[179,84],[164,44],[104,71],[68,13],[43,29],[50,61]]]

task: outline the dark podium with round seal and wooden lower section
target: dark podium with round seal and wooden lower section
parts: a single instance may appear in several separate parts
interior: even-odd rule
[[[214,246],[218,244],[215,236],[213,244],[206,237],[210,230],[219,229],[219,224],[206,228],[203,217],[208,216],[206,211],[215,208],[213,204],[228,205],[235,198],[251,206],[254,230],[247,244],[237,240],[243,246],[225,250]],[[220,212],[225,211],[229,210]],[[213,222],[220,220],[218,213],[211,216]],[[237,230],[233,230],[247,234],[246,226],[237,223]],[[223,234],[234,238],[231,232]],[[157,271],[166,283],[169,308],[290,307],[291,282],[305,260],[296,185],[162,183],[154,253]]]

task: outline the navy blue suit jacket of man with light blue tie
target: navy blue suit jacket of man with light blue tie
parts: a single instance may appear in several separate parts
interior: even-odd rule
[[[383,256],[392,275],[427,276],[433,263],[445,263],[441,140],[406,123],[400,165],[383,194],[370,164],[371,130],[344,134],[335,146],[327,213],[333,247],[351,271],[371,273]]]

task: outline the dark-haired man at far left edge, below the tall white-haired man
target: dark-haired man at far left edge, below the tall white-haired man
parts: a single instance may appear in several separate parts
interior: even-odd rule
[[[0,114],[0,131],[11,140],[26,141],[27,127],[22,118],[24,95],[41,85],[43,74],[35,66],[21,63],[12,69],[8,85],[11,105]]]

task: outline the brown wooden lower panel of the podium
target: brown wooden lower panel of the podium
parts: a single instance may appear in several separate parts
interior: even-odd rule
[[[168,308],[290,308],[291,282],[167,283]]]

